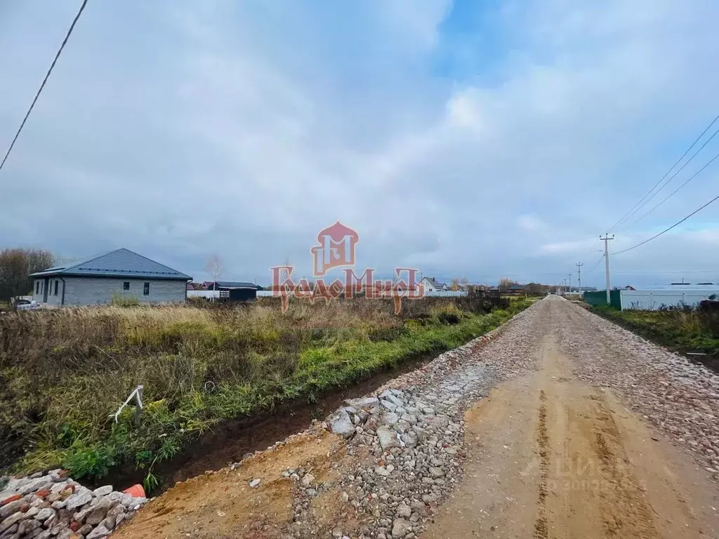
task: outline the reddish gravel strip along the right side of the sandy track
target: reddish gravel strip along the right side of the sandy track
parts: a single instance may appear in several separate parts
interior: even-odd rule
[[[610,387],[719,479],[719,376],[569,305],[552,321],[583,381]]]

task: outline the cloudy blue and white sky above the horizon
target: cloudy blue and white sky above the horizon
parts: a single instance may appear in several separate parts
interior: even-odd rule
[[[4,154],[79,0],[0,2]],[[127,247],[209,280],[357,267],[602,287],[719,195],[715,0],[89,0],[0,170],[0,248]],[[707,133],[710,136],[719,122]],[[697,144],[695,149],[700,145]],[[692,150],[693,153],[694,150]],[[692,155],[690,153],[690,155]],[[670,175],[671,176],[671,175]],[[669,178],[669,176],[667,176]],[[719,201],[610,254],[612,285],[719,282]]]

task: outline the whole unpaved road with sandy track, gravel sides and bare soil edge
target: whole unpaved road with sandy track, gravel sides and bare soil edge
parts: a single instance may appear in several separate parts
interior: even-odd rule
[[[349,438],[180,484],[116,536],[719,537],[718,377],[577,305],[541,300],[395,387]]]

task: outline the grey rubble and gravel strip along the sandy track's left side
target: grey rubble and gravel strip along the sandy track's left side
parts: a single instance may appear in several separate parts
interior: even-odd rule
[[[288,537],[416,537],[436,505],[462,475],[464,410],[496,382],[527,372],[539,343],[539,309],[512,321],[422,369],[403,374],[372,395],[346,401],[323,426],[347,438],[348,453],[361,456],[342,469],[342,522],[320,529],[311,499],[323,484],[305,470],[288,470],[298,484]]]

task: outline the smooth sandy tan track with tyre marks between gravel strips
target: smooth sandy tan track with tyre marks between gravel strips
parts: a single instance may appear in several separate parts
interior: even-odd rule
[[[467,411],[464,481],[426,538],[714,537],[715,486],[547,335],[534,374]]]

